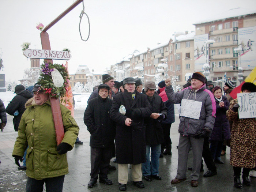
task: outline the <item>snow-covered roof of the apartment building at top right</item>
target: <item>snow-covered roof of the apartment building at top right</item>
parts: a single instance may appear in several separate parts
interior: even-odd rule
[[[212,21],[217,21],[217,20],[222,20],[222,19],[228,19],[228,18],[233,18],[233,17],[241,17],[241,16],[245,16],[245,15],[251,15],[251,14],[256,14],[256,10],[253,7],[254,10],[248,10],[248,8],[233,8],[230,9],[228,11],[224,11],[220,14],[215,14],[212,15],[211,17],[202,17],[205,18],[204,20],[201,21],[197,21],[195,22],[193,25],[199,25],[202,23],[208,23],[208,22],[212,22]]]

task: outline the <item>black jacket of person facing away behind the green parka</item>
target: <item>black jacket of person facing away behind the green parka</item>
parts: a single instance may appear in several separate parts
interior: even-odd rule
[[[13,118],[13,125],[15,131],[18,131],[19,123],[22,114],[25,112],[25,103],[27,100],[33,97],[33,94],[28,91],[24,90],[19,92],[13,99],[12,101],[7,105],[6,108],[6,113],[14,116],[14,112],[18,110],[19,114],[18,116],[14,116]]]

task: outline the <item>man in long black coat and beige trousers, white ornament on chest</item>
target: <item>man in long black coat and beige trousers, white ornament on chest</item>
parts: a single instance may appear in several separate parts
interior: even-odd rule
[[[142,182],[142,163],[146,162],[144,118],[152,113],[147,96],[135,90],[133,78],[124,79],[124,93],[113,99],[110,118],[116,125],[116,162],[118,163],[119,190],[125,191],[128,181],[128,163],[131,164],[132,181],[138,188]]]

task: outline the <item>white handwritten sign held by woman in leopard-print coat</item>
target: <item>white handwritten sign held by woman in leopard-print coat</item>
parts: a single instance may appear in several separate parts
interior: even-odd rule
[[[256,93],[238,93],[237,102],[240,105],[239,118],[256,117]]]

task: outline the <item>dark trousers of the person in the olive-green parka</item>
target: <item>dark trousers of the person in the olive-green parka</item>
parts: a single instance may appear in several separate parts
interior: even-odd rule
[[[28,177],[26,192],[42,192],[44,190],[44,183],[47,192],[62,192],[64,177],[65,175],[59,177],[45,178],[43,180],[36,180],[34,178]]]

